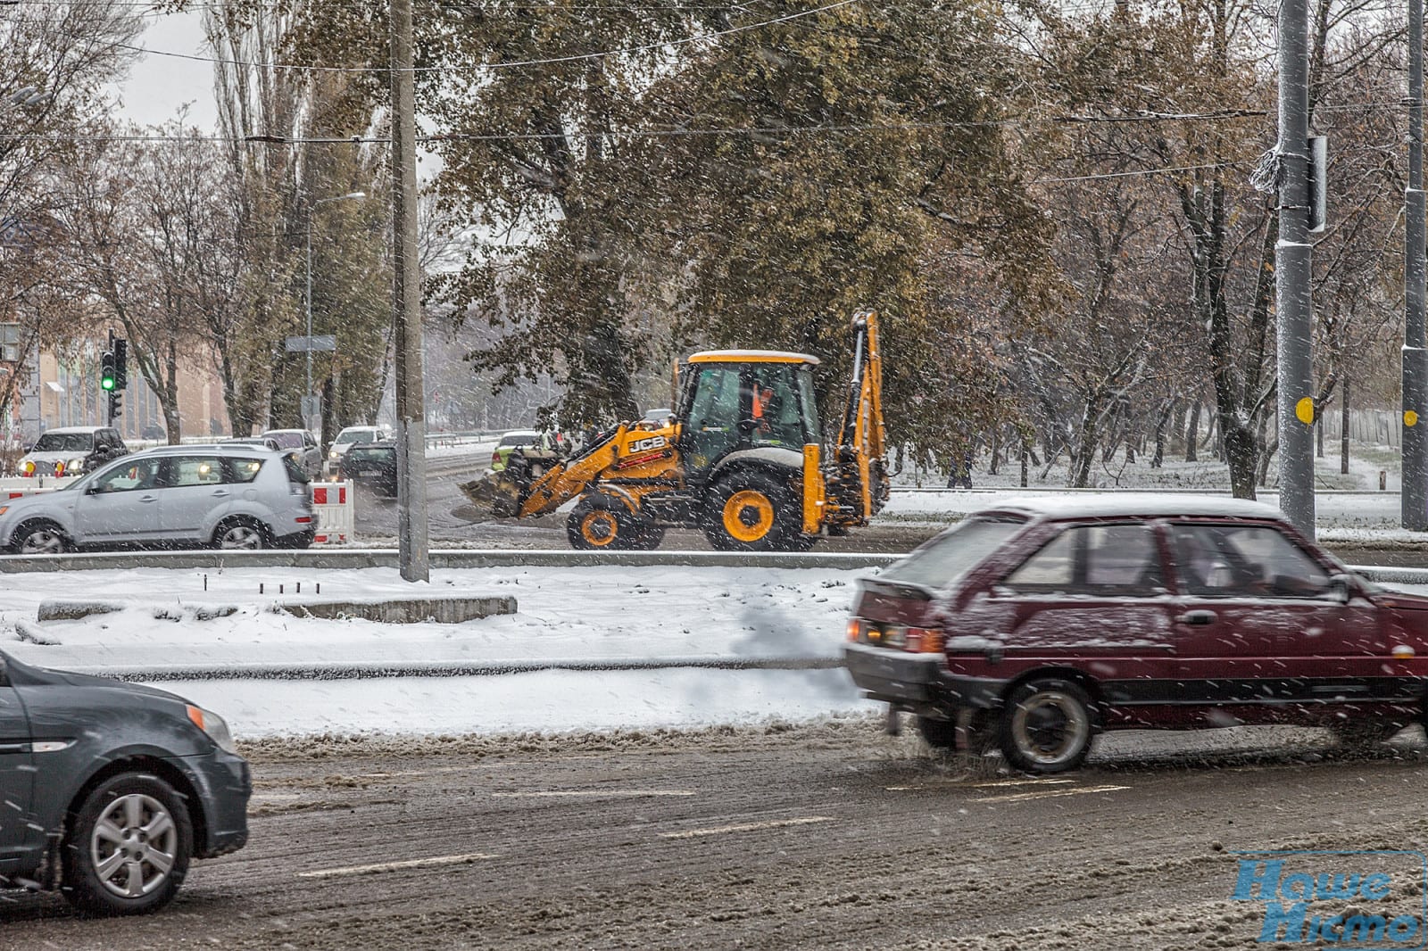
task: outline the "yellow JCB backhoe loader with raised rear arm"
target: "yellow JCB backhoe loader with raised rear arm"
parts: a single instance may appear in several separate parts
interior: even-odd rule
[[[853,380],[830,458],[814,400],[817,357],[713,350],[680,366],[674,416],[623,423],[570,458],[511,453],[461,485],[493,515],[531,517],[573,498],[574,548],[655,548],[671,525],[715,548],[797,551],[865,525],[888,497],[878,320],[860,313]]]

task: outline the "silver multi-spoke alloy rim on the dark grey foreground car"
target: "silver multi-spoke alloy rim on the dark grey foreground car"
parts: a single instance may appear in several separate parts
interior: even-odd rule
[[[161,888],[174,867],[178,828],[159,800],[130,792],[111,801],[90,834],[94,874],[120,898]]]

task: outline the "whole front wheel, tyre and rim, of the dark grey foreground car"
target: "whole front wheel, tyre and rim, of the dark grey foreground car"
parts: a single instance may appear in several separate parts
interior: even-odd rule
[[[63,892],[93,915],[169,904],[188,874],[193,824],[183,797],[156,775],[124,773],[74,812],[63,842]]]

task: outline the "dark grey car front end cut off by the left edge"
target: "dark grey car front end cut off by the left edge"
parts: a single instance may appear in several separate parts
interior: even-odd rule
[[[0,881],[90,914],[167,904],[247,842],[248,765],[181,697],[0,653]]]

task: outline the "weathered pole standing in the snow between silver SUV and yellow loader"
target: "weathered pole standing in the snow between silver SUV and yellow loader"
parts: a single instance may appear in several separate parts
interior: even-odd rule
[[[421,266],[417,261],[417,106],[411,0],[391,0],[391,210],[397,346],[397,564],[430,577],[427,423],[421,383]]]

